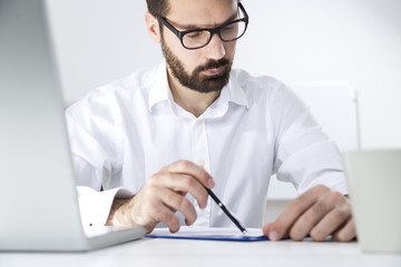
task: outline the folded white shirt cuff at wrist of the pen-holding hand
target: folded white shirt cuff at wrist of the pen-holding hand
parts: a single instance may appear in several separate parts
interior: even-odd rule
[[[121,187],[96,191],[90,187],[78,186],[78,202],[82,226],[105,226],[114,199],[130,198],[134,194]]]

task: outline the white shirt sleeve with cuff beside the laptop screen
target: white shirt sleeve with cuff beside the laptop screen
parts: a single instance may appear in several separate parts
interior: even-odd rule
[[[113,145],[116,135],[110,112],[104,105],[82,99],[67,109],[66,121],[82,225],[105,225],[115,197],[134,196],[121,187],[105,188],[105,182],[117,169],[117,149]]]

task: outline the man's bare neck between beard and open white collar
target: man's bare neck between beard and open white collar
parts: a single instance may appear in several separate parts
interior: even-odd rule
[[[218,98],[221,91],[214,92],[198,92],[190,88],[184,87],[180,82],[170,73],[167,67],[168,85],[172,90],[174,101],[198,118],[205,110]]]

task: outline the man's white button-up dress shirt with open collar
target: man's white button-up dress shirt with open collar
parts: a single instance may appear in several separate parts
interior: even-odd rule
[[[319,184],[348,194],[335,144],[270,77],[233,70],[218,99],[196,118],[174,102],[163,61],[94,90],[66,117],[84,224],[104,225],[116,194],[134,196],[177,160],[204,166],[215,195],[246,227],[262,226],[273,174],[299,194]],[[211,198],[205,209],[188,199],[198,214],[195,225],[233,226]]]

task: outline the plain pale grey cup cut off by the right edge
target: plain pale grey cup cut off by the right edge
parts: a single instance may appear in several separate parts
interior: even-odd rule
[[[401,149],[346,151],[343,160],[362,250],[401,254]]]

